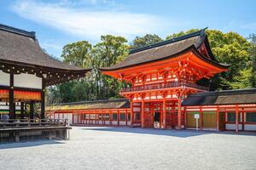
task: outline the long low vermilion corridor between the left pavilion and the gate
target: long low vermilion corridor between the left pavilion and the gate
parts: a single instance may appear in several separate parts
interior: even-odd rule
[[[127,99],[74,102],[47,107],[51,119],[68,119],[73,124],[130,126]]]

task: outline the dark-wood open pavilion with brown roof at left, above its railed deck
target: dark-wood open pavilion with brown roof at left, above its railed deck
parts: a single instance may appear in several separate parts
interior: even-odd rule
[[[46,54],[35,32],[0,25],[0,118],[33,119],[39,104],[38,118],[44,119],[44,88],[84,77],[87,71]]]

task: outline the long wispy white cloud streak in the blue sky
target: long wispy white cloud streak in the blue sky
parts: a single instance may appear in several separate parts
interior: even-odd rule
[[[65,2],[68,1],[61,3],[17,1],[13,10],[28,20],[90,40],[98,40],[101,35],[106,34],[124,36],[129,39],[135,35],[153,33],[165,25],[165,20],[152,14],[134,14],[115,8],[104,10],[74,8],[65,5]],[[107,0],[102,2],[108,3]],[[89,3],[91,5],[98,1],[90,0]]]

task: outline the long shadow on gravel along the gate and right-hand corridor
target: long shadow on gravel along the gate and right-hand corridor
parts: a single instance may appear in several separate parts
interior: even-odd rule
[[[231,135],[250,135],[256,136],[256,132],[215,132],[215,131],[195,131],[195,130],[175,130],[175,129],[154,129],[154,128],[138,128],[138,127],[85,127],[83,130],[95,130],[102,132],[117,132],[117,133],[142,133],[142,134],[152,134],[152,135],[164,135],[173,136],[179,138],[188,138],[193,136],[206,135],[211,133],[217,134],[231,134]]]

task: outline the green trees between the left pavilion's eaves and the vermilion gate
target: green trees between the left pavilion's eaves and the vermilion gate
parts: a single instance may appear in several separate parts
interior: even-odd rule
[[[91,68],[86,77],[48,88],[48,104],[82,100],[120,98],[124,86],[113,77],[102,75],[101,67],[114,65],[128,55],[129,46],[124,37],[102,36],[95,46],[89,42],[73,42],[64,46],[61,58],[79,67]]]

